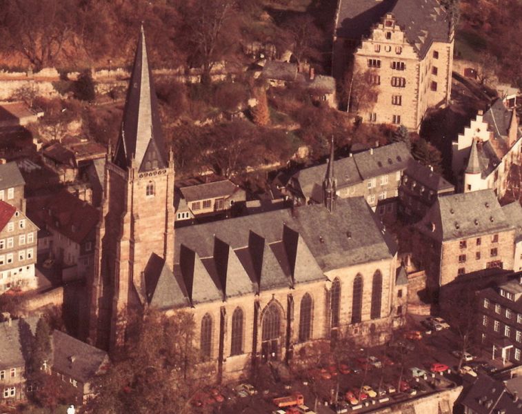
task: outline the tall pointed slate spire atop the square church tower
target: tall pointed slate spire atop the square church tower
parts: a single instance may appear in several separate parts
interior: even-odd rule
[[[113,161],[114,164],[126,169],[131,166],[132,159],[140,171],[165,168],[168,164],[143,25],[139,34],[125,112],[123,112],[123,123]]]

